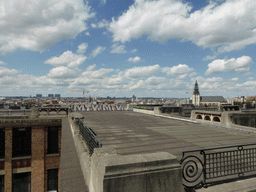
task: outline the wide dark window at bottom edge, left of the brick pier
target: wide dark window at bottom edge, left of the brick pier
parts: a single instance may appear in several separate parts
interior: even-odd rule
[[[13,192],[31,192],[31,173],[18,173],[12,176]]]

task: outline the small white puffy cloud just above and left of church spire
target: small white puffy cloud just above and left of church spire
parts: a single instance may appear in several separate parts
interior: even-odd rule
[[[192,72],[194,69],[190,68],[186,64],[179,64],[177,66],[173,67],[164,67],[162,71],[170,76],[181,76],[182,78],[185,78],[188,73]]]

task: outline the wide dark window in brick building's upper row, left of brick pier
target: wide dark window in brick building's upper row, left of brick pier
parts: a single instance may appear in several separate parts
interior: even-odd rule
[[[31,156],[31,128],[13,128],[13,157]]]

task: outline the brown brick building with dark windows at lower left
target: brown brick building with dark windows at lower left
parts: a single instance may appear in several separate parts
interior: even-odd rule
[[[0,192],[59,191],[61,121],[0,119]]]

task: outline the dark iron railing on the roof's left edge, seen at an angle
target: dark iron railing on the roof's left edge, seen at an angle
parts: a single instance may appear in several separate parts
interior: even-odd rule
[[[87,127],[82,119],[78,119],[78,125],[79,125],[80,134],[85,140],[86,145],[89,149],[89,154],[91,156],[94,152],[94,148],[102,147],[102,143],[97,138],[94,131],[91,128]]]

